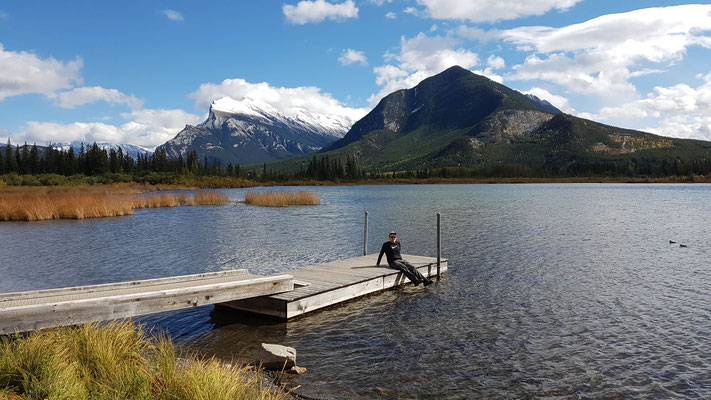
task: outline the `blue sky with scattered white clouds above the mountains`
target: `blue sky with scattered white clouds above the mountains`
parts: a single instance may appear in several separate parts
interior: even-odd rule
[[[0,140],[152,148],[222,96],[356,120],[454,64],[711,140],[711,5],[663,0],[4,1]]]

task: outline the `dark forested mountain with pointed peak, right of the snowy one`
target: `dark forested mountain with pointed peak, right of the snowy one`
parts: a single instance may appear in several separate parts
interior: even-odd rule
[[[319,157],[355,157],[360,168],[371,171],[517,165],[565,175],[606,164],[637,168],[667,158],[709,162],[710,150],[711,142],[567,115],[545,100],[455,66],[383,98]],[[310,159],[267,167],[293,172],[305,169]]]

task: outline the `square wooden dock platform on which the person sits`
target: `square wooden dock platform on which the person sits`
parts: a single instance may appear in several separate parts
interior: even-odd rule
[[[403,255],[427,277],[437,275],[437,259]],[[291,319],[340,302],[355,299],[409,283],[400,272],[383,265],[376,266],[377,254],[349,258],[287,271],[295,280],[294,290],[274,295],[253,297],[221,304],[242,311]],[[447,271],[447,260],[441,260],[441,272]]]

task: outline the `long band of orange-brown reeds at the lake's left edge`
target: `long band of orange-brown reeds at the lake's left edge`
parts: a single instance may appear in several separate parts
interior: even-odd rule
[[[0,221],[42,221],[131,215],[141,208],[227,204],[219,191],[151,193],[154,187],[114,184],[71,187],[11,187],[0,191]]]

